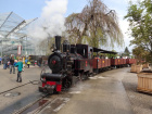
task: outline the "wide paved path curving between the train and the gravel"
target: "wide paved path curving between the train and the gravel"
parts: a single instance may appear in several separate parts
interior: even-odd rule
[[[78,84],[68,92],[71,100],[54,114],[134,114],[122,84],[128,69],[107,71]],[[40,114],[50,114],[49,109]]]

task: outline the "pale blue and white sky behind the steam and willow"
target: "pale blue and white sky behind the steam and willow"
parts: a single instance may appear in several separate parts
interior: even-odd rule
[[[0,0],[0,13],[11,12],[18,14],[25,20],[40,17],[46,0]],[[80,12],[89,0],[68,0],[67,12],[65,16],[73,12]],[[131,0],[136,1],[136,0]],[[128,0],[102,0],[107,8],[115,10],[119,18],[119,25],[124,33],[125,47],[129,47],[129,36],[127,31],[128,23],[123,17],[127,13]],[[131,49],[131,47],[129,48]],[[122,51],[124,48],[122,49]]]

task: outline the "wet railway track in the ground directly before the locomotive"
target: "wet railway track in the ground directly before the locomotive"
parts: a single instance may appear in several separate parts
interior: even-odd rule
[[[64,92],[63,92],[63,94],[51,96],[52,98],[50,100],[46,99],[49,96],[50,94],[46,94],[46,96],[39,98],[38,100],[36,100],[35,102],[27,104],[26,106],[22,107],[21,110],[16,111],[12,114],[27,114],[27,113],[38,114],[49,104],[51,105],[51,104],[55,104],[55,103],[56,103],[55,107],[52,109],[52,111],[58,112],[69,100],[68,96],[64,97],[65,96]],[[59,104],[59,100],[61,100],[60,104]],[[45,101],[45,103],[41,103],[41,105],[39,105],[41,101]]]

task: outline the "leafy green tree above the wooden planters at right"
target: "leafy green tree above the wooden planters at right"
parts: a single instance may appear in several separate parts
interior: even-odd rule
[[[130,2],[125,18],[129,22],[130,36],[134,38],[130,45],[137,46],[134,54],[138,58],[139,53],[145,52],[147,59],[144,55],[140,58],[150,62],[150,56],[152,56],[152,1],[144,0],[136,4]]]

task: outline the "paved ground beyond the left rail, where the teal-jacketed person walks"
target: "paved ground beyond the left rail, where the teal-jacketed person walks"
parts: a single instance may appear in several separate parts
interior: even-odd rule
[[[15,74],[10,74],[10,68],[3,69],[3,65],[0,65],[0,92],[27,84],[33,80],[39,80],[41,68],[38,68],[39,67],[34,66],[30,68],[24,68],[24,72],[22,73],[23,81],[16,83],[17,72]]]

